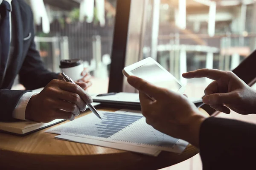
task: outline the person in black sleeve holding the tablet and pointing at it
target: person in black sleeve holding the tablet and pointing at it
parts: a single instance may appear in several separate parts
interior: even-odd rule
[[[232,109],[240,114],[256,113],[256,92],[233,72],[201,69],[183,77],[213,79],[205,89],[203,102],[217,111],[230,113]],[[207,118],[183,95],[157,88],[134,76],[128,77],[128,82],[140,91],[146,122],[199,147],[204,170],[255,169],[256,125]],[[145,94],[153,96],[155,101]]]

